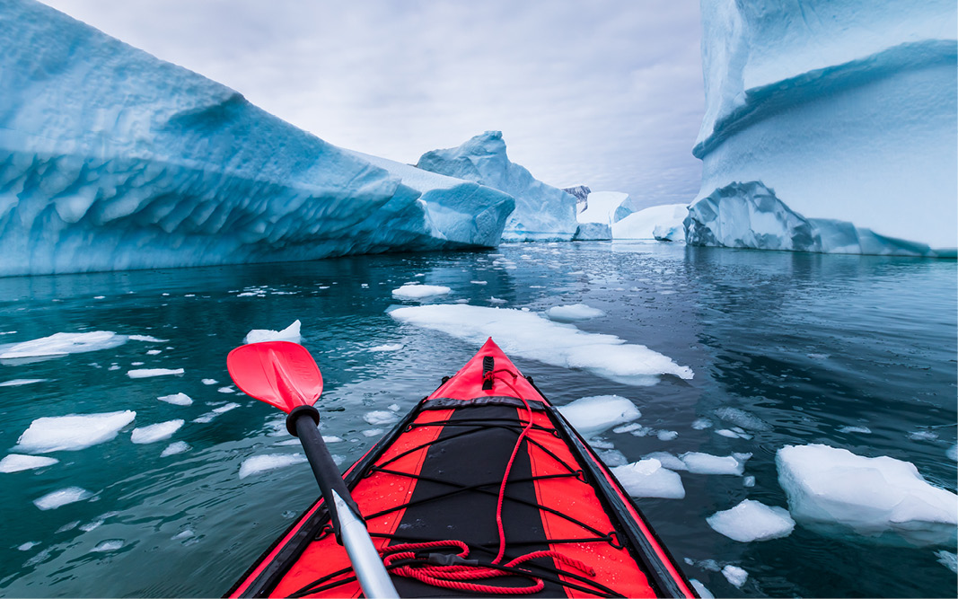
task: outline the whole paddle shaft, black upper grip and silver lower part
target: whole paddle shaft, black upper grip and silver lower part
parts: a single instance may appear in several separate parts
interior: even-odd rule
[[[399,593],[369,537],[359,508],[346,488],[339,468],[332,461],[330,450],[326,448],[323,435],[319,433],[312,416],[307,411],[294,411],[289,416],[293,419],[296,436],[303,444],[309,466],[323,492],[336,536],[346,547],[363,594],[370,599],[398,598]]]

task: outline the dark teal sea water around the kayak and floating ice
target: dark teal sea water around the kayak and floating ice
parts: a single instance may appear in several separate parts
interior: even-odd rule
[[[580,323],[582,330],[647,345],[694,370],[693,380],[665,377],[635,387],[515,359],[554,403],[618,394],[641,408],[643,425],[678,433],[669,441],[605,434],[629,461],[656,450],[754,454],[745,472],[756,477],[752,488],[738,476],[683,473],[685,499],[640,500],[687,574],[715,594],[954,596],[955,574],[935,551],[955,547],[890,547],[801,525],[785,539],[741,543],[713,531],[705,518],[746,497],[787,505],[774,463],[775,451],[787,444],[890,455],[955,491],[956,464],[947,449],[958,418],[956,270],[952,261],[595,242],[0,279],[0,343],[88,331],[165,339],[0,364],[0,382],[44,379],[0,387],[4,449],[40,417],[137,413],[111,441],[49,454],[60,460],[54,466],[0,473],[0,594],[223,593],[316,495],[307,464],[239,478],[247,458],[297,448],[277,445],[290,437],[275,410],[229,392],[227,352],[251,329],[281,329],[300,319],[303,343],[326,380],[318,404],[323,431],[343,439],[330,448],[345,468],[376,441],[364,434],[374,428],[365,414],[391,404],[404,412],[477,349],[386,313],[398,303],[392,289],[421,281],[452,288],[437,300],[444,303],[491,306],[495,297],[507,302],[498,305],[532,311],[586,303],[606,316]],[[404,347],[369,351],[384,344]],[[134,368],[185,374],[133,380],[125,373]],[[194,404],[156,400],[179,392]],[[191,422],[231,402],[239,407],[209,423]],[[702,417],[719,424],[715,410],[723,406],[770,426],[751,439],[692,427]],[[161,457],[170,441],[130,442],[133,426],[176,418],[187,424],[171,441],[185,441],[189,451]],[[842,426],[871,433],[841,432]],[[95,495],[56,510],[34,507],[35,498],[70,486]],[[749,578],[733,587],[705,560],[738,565]]]

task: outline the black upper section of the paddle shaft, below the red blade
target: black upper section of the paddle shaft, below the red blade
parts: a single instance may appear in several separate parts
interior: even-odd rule
[[[319,433],[319,428],[316,426],[318,423],[319,411],[311,405],[297,406],[286,417],[286,427],[290,432],[295,431],[293,434],[299,437],[300,443],[303,444],[303,451],[309,460],[309,466],[312,467],[312,473],[316,476],[319,489],[323,492],[326,509],[330,511],[332,530],[336,534],[336,540],[342,544],[339,515],[336,512],[336,502],[332,498],[332,492],[339,495],[349,506],[355,518],[361,521],[362,515],[359,513],[359,506],[356,505],[353,496],[346,488],[346,483],[343,482],[339,467],[332,461],[330,450],[326,448],[323,435]]]

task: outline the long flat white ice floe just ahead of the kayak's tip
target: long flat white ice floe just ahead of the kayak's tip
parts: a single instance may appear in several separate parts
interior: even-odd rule
[[[507,354],[565,368],[582,368],[606,379],[650,385],[658,375],[692,379],[692,369],[644,345],[611,334],[584,333],[534,312],[506,308],[437,305],[399,308],[389,314],[400,322],[441,331],[477,347],[488,337]]]

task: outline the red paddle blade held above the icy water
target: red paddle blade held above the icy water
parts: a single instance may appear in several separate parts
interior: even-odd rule
[[[305,347],[289,341],[241,345],[226,357],[230,377],[246,395],[289,413],[312,405],[323,393],[323,376]]]

